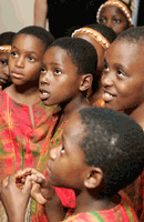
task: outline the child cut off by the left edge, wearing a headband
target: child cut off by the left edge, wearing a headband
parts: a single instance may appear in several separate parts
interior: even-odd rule
[[[16,32],[3,32],[0,34],[0,91],[11,84],[9,78],[8,60],[11,51],[11,42]]]

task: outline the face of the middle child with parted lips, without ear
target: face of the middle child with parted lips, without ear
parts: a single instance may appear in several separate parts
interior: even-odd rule
[[[81,74],[64,49],[52,47],[43,57],[40,74],[40,99],[45,105],[71,101],[79,94]]]

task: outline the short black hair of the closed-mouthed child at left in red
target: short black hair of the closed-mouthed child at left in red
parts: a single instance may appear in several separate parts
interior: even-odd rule
[[[55,38],[52,36],[51,32],[47,31],[45,29],[43,29],[41,27],[37,27],[37,26],[29,26],[29,27],[24,27],[23,29],[19,30],[16,33],[13,41],[20,34],[30,34],[30,36],[37,37],[39,40],[41,40],[43,42],[45,49],[55,40]]]

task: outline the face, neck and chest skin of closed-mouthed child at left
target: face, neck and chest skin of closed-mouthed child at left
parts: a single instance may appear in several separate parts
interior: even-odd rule
[[[44,51],[43,42],[37,37],[20,34],[14,39],[9,56],[12,84],[6,89],[6,92],[16,102],[29,107],[33,129],[32,105],[40,101],[39,75]]]

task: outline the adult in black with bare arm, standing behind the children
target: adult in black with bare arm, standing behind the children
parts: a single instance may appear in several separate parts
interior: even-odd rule
[[[34,0],[34,24],[45,28],[49,21],[51,33],[58,39],[71,33],[88,23],[94,23],[97,0]]]

